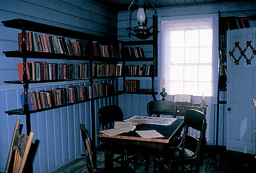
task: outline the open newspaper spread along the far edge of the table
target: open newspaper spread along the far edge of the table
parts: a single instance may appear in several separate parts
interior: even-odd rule
[[[129,119],[123,120],[126,122],[133,121],[146,121],[145,124],[155,124],[155,125],[171,125],[176,121],[176,118],[166,118],[166,117],[148,117],[148,116],[131,116]]]

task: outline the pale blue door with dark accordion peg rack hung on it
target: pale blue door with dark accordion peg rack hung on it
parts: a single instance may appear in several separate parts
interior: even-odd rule
[[[235,42],[239,41],[242,50],[246,47],[246,41],[256,50],[256,27],[235,29],[227,32],[227,120],[226,120],[226,148],[242,153],[255,154],[255,62],[256,56],[247,65],[244,57],[235,65],[229,50],[232,51]],[[236,48],[234,57],[241,55]],[[251,48],[245,52],[248,59],[253,54]],[[230,111],[229,111],[230,110]]]

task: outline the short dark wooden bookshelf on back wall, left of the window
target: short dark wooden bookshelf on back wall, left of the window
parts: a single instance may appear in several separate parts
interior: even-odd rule
[[[155,95],[157,92],[154,91],[154,78],[157,77],[158,75],[158,21],[157,17],[153,16],[153,35],[152,35],[152,40],[138,40],[138,41],[123,41],[123,49],[126,47],[138,47],[138,46],[152,46],[152,52],[151,54],[145,53],[144,51],[144,57],[140,58],[133,58],[133,56],[127,56],[126,52],[123,51],[123,67],[125,67],[125,73],[123,73],[123,93],[129,93],[129,94],[149,94],[152,95],[153,99],[156,100]],[[143,49],[146,50],[146,49]],[[139,64],[138,64],[139,63]],[[129,73],[129,70],[127,70],[127,64],[136,64],[136,65],[131,65],[131,66],[137,66],[137,72],[138,68],[140,68],[140,65],[146,65],[148,67],[148,71],[150,73],[144,75],[144,74],[138,74],[136,73]],[[146,69],[147,69],[146,67]],[[150,69],[151,68],[151,69]],[[152,70],[152,71],[151,71]],[[127,89],[127,85],[129,85],[129,77],[136,77],[136,80],[131,80],[131,83],[134,83],[136,87],[135,90],[129,90],[129,87]],[[136,83],[140,81],[139,78],[141,77],[150,77],[151,78],[151,88],[138,88],[139,86],[136,86]],[[128,91],[128,92],[127,92]]]

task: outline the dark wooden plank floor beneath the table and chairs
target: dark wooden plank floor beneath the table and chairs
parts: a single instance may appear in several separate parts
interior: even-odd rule
[[[97,166],[104,167],[104,153],[97,151]],[[51,173],[87,173],[84,157],[78,157],[75,160],[57,168]],[[144,167],[139,167],[136,172],[144,172]],[[152,172],[152,164],[150,167]],[[207,146],[204,153],[204,161],[200,167],[202,173],[255,173],[256,158],[255,155],[228,151],[222,148]]]

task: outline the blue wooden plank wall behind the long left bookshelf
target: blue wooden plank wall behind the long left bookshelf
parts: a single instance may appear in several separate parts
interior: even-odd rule
[[[64,27],[76,31],[92,33],[100,36],[117,37],[117,14],[97,3],[80,0],[59,1],[0,1],[0,21],[15,18],[32,20],[39,23]],[[3,81],[18,80],[16,64],[21,58],[6,58],[2,53],[18,49],[19,29],[6,28],[0,24],[0,171],[5,170],[11,137],[13,136],[16,119],[23,125],[22,133],[26,134],[26,118],[24,115],[8,116],[5,111],[21,108],[19,95],[22,85],[4,84]],[[30,60],[54,63],[81,63],[81,61],[65,60]],[[86,84],[89,81],[57,82],[31,84],[28,91],[51,90],[58,87]],[[98,108],[118,104],[117,97],[95,100]],[[79,124],[84,123],[91,131],[90,102],[73,106],[33,113],[31,130],[35,132],[33,144],[36,146],[33,161],[34,172],[49,172],[79,156],[83,151]],[[96,116],[97,119],[97,116]],[[99,129],[96,121],[97,130]]]

